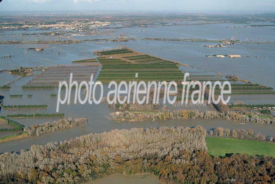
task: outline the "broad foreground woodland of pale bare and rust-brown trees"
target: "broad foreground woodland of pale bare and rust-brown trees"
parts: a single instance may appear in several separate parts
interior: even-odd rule
[[[81,183],[112,174],[152,173],[164,183],[272,183],[275,159],[211,157],[206,130],[112,130],[0,155],[0,183]]]

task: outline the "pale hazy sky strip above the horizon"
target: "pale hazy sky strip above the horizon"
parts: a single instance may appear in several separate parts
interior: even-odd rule
[[[3,0],[0,11],[123,10],[275,12],[275,0]]]

